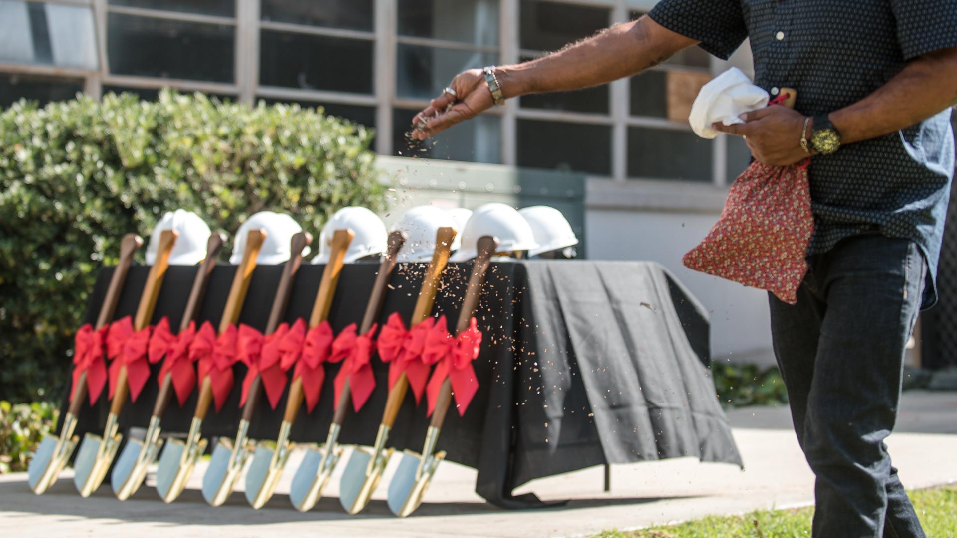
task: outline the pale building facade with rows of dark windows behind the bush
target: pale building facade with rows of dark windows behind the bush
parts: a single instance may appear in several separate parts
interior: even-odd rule
[[[652,259],[675,272],[711,309],[715,359],[769,363],[765,294],[680,263],[748,162],[736,138],[696,137],[688,111],[729,65],[750,71],[747,46],[730,63],[695,48],[607,86],[511,100],[424,145],[405,136],[456,73],[544,55],[656,3],[0,0],[0,107],[78,92],[155,99],[166,86],[323,106],[376,129],[399,187],[394,206],[558,207],[589,258]]]

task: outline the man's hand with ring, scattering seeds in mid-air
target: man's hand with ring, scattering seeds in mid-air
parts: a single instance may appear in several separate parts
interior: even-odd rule
[[[432,100],[425,110],[416,114],[412,118],[412,138],[425,140],[456,123],[475,118],[495,104],[481,69],[459,73],[449,87],[455,90],[457,97],[443,93]],[[452,108],[446,110],[449,104],[452,104]]]

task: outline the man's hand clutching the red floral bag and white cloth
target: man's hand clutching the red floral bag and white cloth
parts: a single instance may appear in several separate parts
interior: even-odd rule
[[[745,137],[751,155],[760,163],[772,167],[787,167],[808,157],[801,147],[801,129],[806,119],[787,106],[768,106],[741,116],[746,123],[712,126],[725,133]],[[811,131],[811,124],[808,131]]]

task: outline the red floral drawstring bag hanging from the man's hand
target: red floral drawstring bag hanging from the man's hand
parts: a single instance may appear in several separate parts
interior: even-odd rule
[[[784,99],[782,94],[771,104]],[[684,265],[797,303],[814,230],[810,164],[811,159],[789,167],[752,163],[731,185],[717,224],[684,255]]]

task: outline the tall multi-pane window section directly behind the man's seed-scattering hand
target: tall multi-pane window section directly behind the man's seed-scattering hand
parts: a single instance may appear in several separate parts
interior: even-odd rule
[[[501,117],[493,110],[426,143],[412,117],[466,69],[500,63],[498,0],[398,0],[392,153],[501,163]]]

